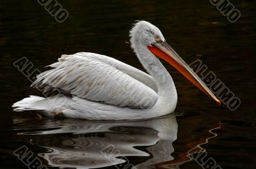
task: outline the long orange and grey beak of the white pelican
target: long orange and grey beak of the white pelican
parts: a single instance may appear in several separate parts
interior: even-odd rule
[[[207,94],[210,98],[214,99],[218,105],[221,104],[221,101],[214,96],[198,75],[189,68],[188,64],[181,59],[181,57],[172,49],[172,47],[170,47],[170,45],[168,45],[168,43],[166,43],[166,41],[154,43],[152,46],[148,46],[148,49],[157,57],[160,57],[171,64],[182,75],[184,75],[184,77],[188,78],[190,82],[196,85],[196,87]]]

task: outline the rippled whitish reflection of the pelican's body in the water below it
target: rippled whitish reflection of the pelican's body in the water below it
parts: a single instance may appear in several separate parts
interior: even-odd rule
[[[67,125],[58,129],[30,133],[31,144],[48,150],[39,156],[50,166],[152,168],[156,163],[173,159],[172,142],[177,138],[174,115],[132,122],[63,121]]]

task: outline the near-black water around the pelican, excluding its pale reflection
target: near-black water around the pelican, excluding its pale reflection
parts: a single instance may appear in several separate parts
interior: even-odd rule
[[[207,0],[58,2],[69,13],[63,23],[56,22],[37,1],[0,1],[0,160],[3,168],[26,168],[12,155],[12,151],[22,145],[17,135],[20,124],[13,122],[22,115],[13,113],[12,104],[29,94],[42,96],[29,88],[31,82],[13,62],[27,57],[35,68],[44,71],[44,66],[56,62],[61,54],[95,52],[142,70],[129,44],[125,43],[129,41],[128,32],[134,20],[147,20],[159,27],[184,61],[191,63],[200,59],[241,99],[241,106],[235,111],[225,105],[218,107],[164,63],[177,88],[176,111],[184,114],[177,117],[179,129],[172,156],[179,159],[180,154],[189,150],[189,143],[207,137],[208,130],[216,128],[221,121],[221,129],[216,130],[218,136],[205,144],[204,149],[223,168],[254,168],[255,1],[230,1],[241,11],[241,18],[235,23],[230,23]],[[22,118],[22,129],[37,123],[35,119]],[[195,162],[180,166],[191,167],[200,168]]]

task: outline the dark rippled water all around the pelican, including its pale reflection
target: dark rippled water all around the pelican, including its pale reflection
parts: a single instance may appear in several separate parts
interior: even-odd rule
[[[28,168],[13,155],[23,145],[33,152],[24,160],[38,158],[47,168],[207,168],[189,158],[196,149],[207,152],[202,161],[212,158],[221,168],[255,168],[255,1],[230,1],[241,11],[235,23],[209,1],[59,2],[69,13],[61,24],[37,1],[0,2],[0,168]],[[125,43],[134,20],[159,27],[186,62],[204,62],[241,99],[240,107],[218,107],[165,64],[177,87],[177,117],[38,120],[12,111],[29,94],[42,96],[13,66],[21,57],[44,71],[61,54],[95,52],[142,69]]]

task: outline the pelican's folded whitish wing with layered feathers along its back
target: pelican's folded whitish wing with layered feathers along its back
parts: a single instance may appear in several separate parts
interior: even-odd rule
[[[81,52],[62,55],[58,61],[38,75],[32,86],[119,107],[149,108],[157,101],[154,79],[116,59]]]

